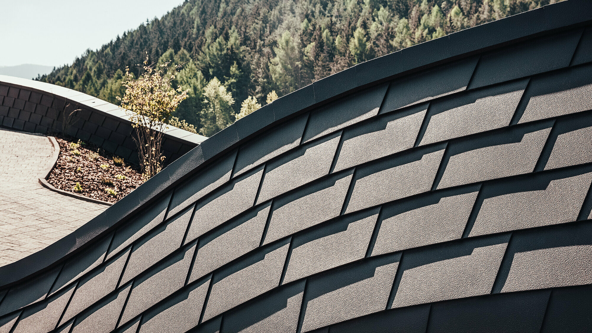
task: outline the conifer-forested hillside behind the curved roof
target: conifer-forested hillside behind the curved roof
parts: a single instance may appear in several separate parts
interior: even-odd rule
[[[175,116],[211,136],[270,100],[356,63],[555,0],[187,0],[38,79],[111,103],[126,66],[181,65]],[[247,100],[248,98],[248,100]],[[254,99],[253,99],[254,98]],[[271,98],[272,100],[273,98]],[[240,116],[239,116],[240,117]]]

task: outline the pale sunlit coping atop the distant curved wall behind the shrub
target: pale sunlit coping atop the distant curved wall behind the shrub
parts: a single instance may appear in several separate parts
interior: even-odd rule
[[[49,84],[46,82],[17,78],[15,76],[8,75],[0,75],[0,84],[8,84],[13,87],[51,94],[61,97],[66,101],[69,101],[69,103],[76,103],[88,107],[94,110],[94,112],[106,114],[111,117],[116,117],[129,122],[129,116],[127,115],[126,109],[109,103],[108,101],[101,100],[100,98],[87,95],[80,91],[61,87],[59,85]],[[179,140],[179,142],[186,142],[189,145],[199,145],[201,142],[207,139],[205,136],[191,133],[172,125],[168,125],[164,133],[166,135],[175,137],[175,139]]]

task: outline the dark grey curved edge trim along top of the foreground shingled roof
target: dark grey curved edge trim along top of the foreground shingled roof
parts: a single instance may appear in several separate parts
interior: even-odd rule
[[[236,143],[268,129],[281,120],[287,120],[369,85],[546,34],[552,30],[584,25],[591,20],[592,2],[567,0],[417,44],[360,63],[298,89],[205,140],[70,235],[28,257],[0,267],[0,286],[15,283],[62,262],[73,252],[83,248],[83,245],[92,244],[96,236],[126,222],[134,212],[152,203],[172,185],[201,169],[204,162],[211,161]]]

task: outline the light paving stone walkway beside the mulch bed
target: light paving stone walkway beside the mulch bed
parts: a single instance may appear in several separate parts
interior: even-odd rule
[[[39,251],[107,209],[39,184],[52,153],[46,136],[0,129],[0,266]]]

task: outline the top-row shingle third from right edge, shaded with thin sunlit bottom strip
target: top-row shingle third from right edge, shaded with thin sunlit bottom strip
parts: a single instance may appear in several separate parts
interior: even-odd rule
[[[469,57],[393,81],[380,113],[465,90],[477,60]]]

